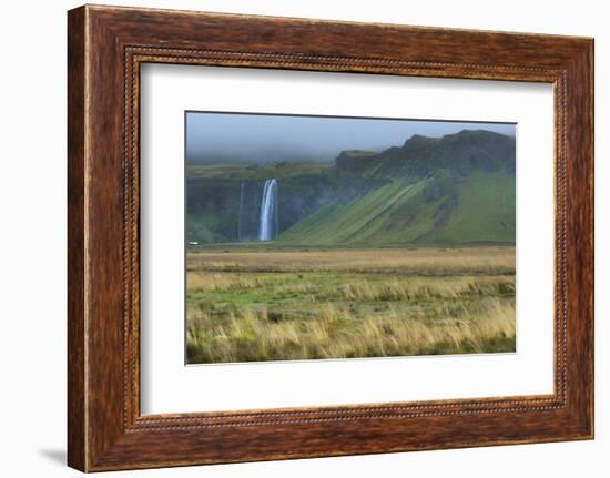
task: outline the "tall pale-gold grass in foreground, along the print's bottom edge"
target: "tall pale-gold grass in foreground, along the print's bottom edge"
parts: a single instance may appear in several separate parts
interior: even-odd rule
[[[354,318],[327,303],[314,318],[270,319],[267,311],[243,309],[218,321],[199,312],[189,318],[192,363],[388,357],[515,349],[515,307],[490,299],[477,313],[409,317],[390,307],[382,316]]]

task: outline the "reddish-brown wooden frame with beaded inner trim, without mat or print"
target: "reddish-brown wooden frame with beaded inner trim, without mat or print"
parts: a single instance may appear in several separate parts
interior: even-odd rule
[[[593,437],[592,39],[91,6],[68,19],[70,466],[98,471]],[[141,416],[143,62],[552,83],[555,393]]]

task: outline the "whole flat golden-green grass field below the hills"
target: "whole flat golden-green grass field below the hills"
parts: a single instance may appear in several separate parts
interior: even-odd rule
[[[515,350],[515,248],[189,251],[187,363]]]

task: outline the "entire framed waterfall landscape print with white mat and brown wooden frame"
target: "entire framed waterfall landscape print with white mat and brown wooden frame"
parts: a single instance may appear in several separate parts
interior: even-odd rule
[[[593,437],[593,41],[69,12],[69,465]]]

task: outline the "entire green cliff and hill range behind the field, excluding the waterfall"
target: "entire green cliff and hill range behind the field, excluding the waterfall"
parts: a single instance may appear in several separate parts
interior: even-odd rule
[[[253,152],[248,164],[234,153],[190,162],[187,241],[256,240],[264,183],[275,179],[277,244],[515,243],[515,136],[465,129],[407,138],[382,151],[345,149],[332,162],[283,145],[264,161]]]

